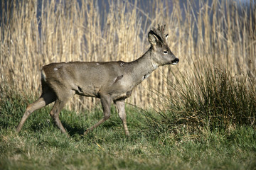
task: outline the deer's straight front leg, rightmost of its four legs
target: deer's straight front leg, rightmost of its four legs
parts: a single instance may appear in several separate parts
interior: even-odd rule
[[[125,113],[125,108],[124,108],[124,106],[125,106],[124,100],[114,101],[114,104],[117,107],[117,112],[118,112],[119,118],[122,120],[125,135],[129,136],[129,130],[127,127],[127,118],[126,118],[126,113]]]

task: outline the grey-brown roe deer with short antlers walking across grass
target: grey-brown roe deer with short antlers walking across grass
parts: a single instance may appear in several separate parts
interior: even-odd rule
[[[84,134],[110,118],[110,106],[114,101],[124,132],[129,135],[124,100],[129,98],[132,89],[149,77],[157,67],[177,64],[179,61],[166,43],[168,34],[164,34],[164,29],[165,26],[158,26],[157,29],[152,28],[149,31],[148,38],[151,44],[149,50],[133,62],[60,62],[43,66],[41,70],[43,93],[37,101],[28,105],[16,131],[21,130],[28,115],[33,111],[55,101],[50,116],[61,132],[67,133],[60,122],[59,113],[74,94],[79,94],[100,98],[104,114],[104,117],[88,128]]]

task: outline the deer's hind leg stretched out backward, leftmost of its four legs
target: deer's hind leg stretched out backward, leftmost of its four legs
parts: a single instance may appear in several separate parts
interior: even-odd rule
[[[41,95],[41,97],[38,98],[37,101],[35,101],[34,103],[29,104],[28,107],[26,108],[26,111],[25,111],[23,117],[21,118],[21,122],[18,124],[18,126],[16,128],[16,131],[17,132],[21,131],[21,128],[22,128],[23,124],[25,123],[28,116],[31,115],[31,113],[38,110],[39,108],[43,108],[43,106],[46,106],[46,105],[48,105],[49,103],[52,103],[55,100],[56,100],[56,96],[53,93],[53,91],[47,91],[47,92],[43,93]]]

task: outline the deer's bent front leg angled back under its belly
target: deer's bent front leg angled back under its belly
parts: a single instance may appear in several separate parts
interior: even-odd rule
[[[110,118],[110,107],[111,107],[111,101],[112,101],[111,96],[110,96],[110,95],[101,94],[101,95],[100,95],[100,101],[101,101],[101,103],[102,103],[104,118],[102,118],[99,122],[97,122],[97,123],[96,123],[95,125],[93,125],[92,127],[88,128],[88,129],[84,132],[84,135],[87,135],[88,132],[94,130],[94,129],[97,128],[100,124],[104,123],[107,119]]]

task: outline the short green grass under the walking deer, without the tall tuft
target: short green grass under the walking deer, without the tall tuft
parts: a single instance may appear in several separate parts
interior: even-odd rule
[[[176,127],[171,124],[170,128],[158,114],[161,112],[127,106],[130,137],[124,135],[114,107],[110,120],[82,136],[87,127],[102,117],[97,107],[92,113],[67,110],[60,113],[60,120],[71,135],[68,138],[54,125],[48,106],[30,115],[21,133],[16,134],[15,127],[32,100],[15,91],[4,94],[0,102],[0,169],[255,169],[256,166],[256,132],[250,125],[229,130],[198,126],[198,130],[189,131],[186,123]],[[149,123],[153,125],[151,128]],[[159,123],[162,127],[157,131]]]

